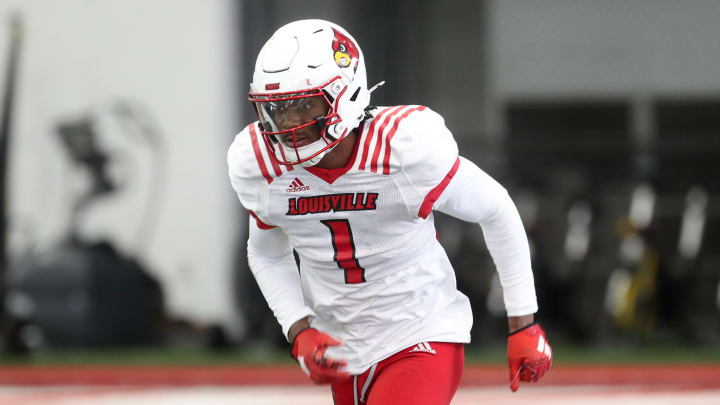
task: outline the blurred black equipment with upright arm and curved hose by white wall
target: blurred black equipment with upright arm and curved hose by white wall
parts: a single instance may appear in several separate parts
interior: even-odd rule
[[[145,142],[159,149],[158,131],[139,110],[117,103],[112,113],[121,123],[135,124]],[[163,338],[160,284],[139,260],[111,242],[89,241],[81,234],[81,214],[99,197],[118,189],[108,174],[112,155],[98,142],[98,118],[88,114],[57,125],[61,144],[70,159],[89,172],[90,184],[74,201],[63,240],[15,260],[9,272],[7,310],[19,325],[15,340],[28,349],[144,345]],[[154,184],[162,181],[158,173]],[[153,188],[151,197],[156,197],[158,188]],[[152,208],[148,206],[146,216],[153,214]],[[147,240],[152,229],[145,228],[145,222],[152,221],[142,222],[138,240]]]

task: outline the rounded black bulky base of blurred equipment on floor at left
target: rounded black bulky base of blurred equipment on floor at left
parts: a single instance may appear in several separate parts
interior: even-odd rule
[[[9,310],[35,347],[156,343],[161,338],[160,285],[134,259],[106,242],[68,239],[18,263]]]

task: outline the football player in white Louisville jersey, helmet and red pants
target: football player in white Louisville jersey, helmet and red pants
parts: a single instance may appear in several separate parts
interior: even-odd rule
[[[257,58],[258,115],[228,152],[249,211],[248,260],[290,342],[335,404],[449,404],[468,298],[433,211],[479,224],[503,286],[510,388],[552,363],[534,322],[527,237],[506,190],[458,155],[428,107],[371,107],[353,37],[322,20],[277,30]],[[299,269],[293,249],[300,258]]]

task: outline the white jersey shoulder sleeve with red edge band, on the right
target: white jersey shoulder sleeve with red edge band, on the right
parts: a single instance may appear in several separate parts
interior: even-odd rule
[[[459,161],[457,144],[445,120],[429,108],[420,108],[400,122],[392,139],[400,169],[393,177],[410,215],[427,218]]]

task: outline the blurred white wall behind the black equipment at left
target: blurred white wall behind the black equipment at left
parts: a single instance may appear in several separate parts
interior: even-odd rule
[[[166,156],[156,229],[140,258],[161,281],[171,316],[241,333],[231,266],[244,220],[225,163],[240,124],[234,2],[1,0],[3,25],[14,11],[25,23],[10,167],[15,252],[27,248],[23,240],[52,246],[67,229],[79,186],[68,183],[84,172],[62,150],[57,120],[118,98],[138,101],[163,132]],[[0,55],[6,36],[0,30]],[[100,142],[124,153],[119,167],[132,170],[115,175],[127,187],[94,204],[81,230],[134,254],[152,162],[113,125],[101,123]]]

